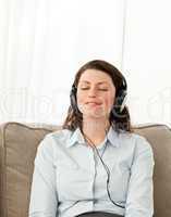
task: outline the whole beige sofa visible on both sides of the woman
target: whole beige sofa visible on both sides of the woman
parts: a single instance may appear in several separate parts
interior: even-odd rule
[[[27,217],[34,158],[44,137],[60,126],[9,122],[0,125],[0,217]],[[155,217],[171,217],[171,130],[166,125],[134,127],[155,155]]]

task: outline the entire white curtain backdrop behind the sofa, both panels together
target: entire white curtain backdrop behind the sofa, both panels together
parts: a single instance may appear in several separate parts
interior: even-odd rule
[[[171,123],[169,0],[0,0],[0,123],[61,124],[76,71],[113,63],[133,124]]]

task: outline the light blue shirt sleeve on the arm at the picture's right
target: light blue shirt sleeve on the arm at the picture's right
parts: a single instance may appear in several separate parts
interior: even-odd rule
[[[125,206],[125,217],[154,215],[154,152],[144,137],[136,142]]]

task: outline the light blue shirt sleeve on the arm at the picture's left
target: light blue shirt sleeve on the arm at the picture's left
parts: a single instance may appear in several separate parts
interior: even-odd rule
[[[58,196],[56,166],[53,164],[53,140],[47,135],[38,145],[29,201],[29,217],[56,217]]]

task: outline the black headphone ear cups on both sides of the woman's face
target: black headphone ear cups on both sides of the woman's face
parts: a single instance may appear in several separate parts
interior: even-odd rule
[[[71,106],[75,114],[80,114],[77,102],[76,102],[76,91],[77,91],[77,87],[75,86],[75,84],[73,84],[71,92],[70,92]],[[122,84],[117,92],[115,103],[111,110],[114,116],[122,114],[126,100],[127,100],[127,84],[126,84],[125,78],[122,76]]]

